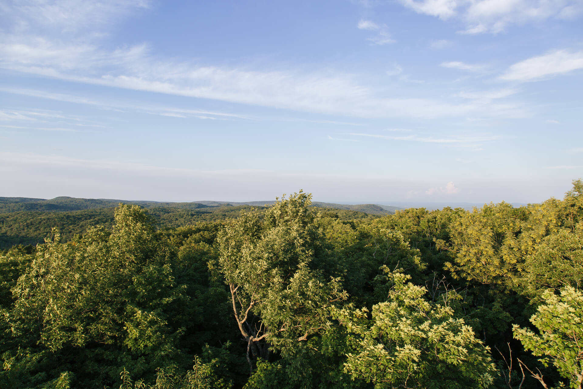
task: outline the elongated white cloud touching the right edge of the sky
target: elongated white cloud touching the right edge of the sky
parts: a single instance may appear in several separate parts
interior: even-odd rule
[[[577,69],[583,69],[583,51],[557,50],[518,62],[499,78],[506,81],[535,81]]]

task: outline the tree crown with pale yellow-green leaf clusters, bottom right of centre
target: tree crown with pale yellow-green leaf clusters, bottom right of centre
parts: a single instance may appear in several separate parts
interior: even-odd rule
[[[488,349],[462,319],[423,298],[426,290],[392,275],[385,303],[366,310],[338,311],[352,351],[345,371],[375,387],[487,388],[495,372]]]

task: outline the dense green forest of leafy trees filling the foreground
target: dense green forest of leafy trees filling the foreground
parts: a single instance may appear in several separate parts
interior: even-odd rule
[[[582,180],[542,204],[382,216],[301,191],[3,199],[0,387],[582,387]]]

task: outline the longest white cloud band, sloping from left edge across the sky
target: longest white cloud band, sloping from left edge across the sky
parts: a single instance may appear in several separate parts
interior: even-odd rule
[[[125,56],[123,50],[118,50],[117,55],[111,57],[97,47],[93,50],[62,47],[50,49],[46,55],[43,51],[44,44],[27,47],[26,52],[34,52],[32,61],[6,50],[6,45],[0,45],[3,57],[0,67],[95,85],[356,117],[431,118],[470,113],[524,115],[520,110],[509,110],[508,107],[381,97],[374,89],[361,85],[353,75],[346,73],[306,73],[299,69],[257,71],[163,62],[150,57],[143,47],[129,48],[125,50]],[[55,51],[62,53],[64,58],[54,55]],[[83,54],[71,54],[79,52]]]

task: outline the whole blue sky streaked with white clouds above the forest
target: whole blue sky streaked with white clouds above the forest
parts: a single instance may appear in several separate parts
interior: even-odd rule
[[[561,198],[583,0],[0,0],[0,195]]]

